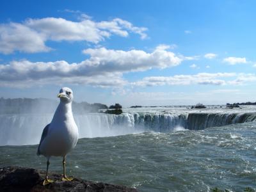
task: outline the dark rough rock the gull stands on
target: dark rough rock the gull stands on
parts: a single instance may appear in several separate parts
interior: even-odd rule
[[[137,191],[134,188],[126,188],[102,182],[92,182],[79,178],[72,181],[62,181],[61,175],[49,173],[49,178],[54,180],[51,184],[43,186],[45,172],[33,168],[6,167],[0,168],[0,191]]]

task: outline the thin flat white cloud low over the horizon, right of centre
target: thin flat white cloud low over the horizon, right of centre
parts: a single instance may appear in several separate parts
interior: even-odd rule
[[[235,73],[199,73],[196,75],[177,75],[169,77],[145,77],[141,81],[132,83],[135,86],[163,86],[163,85],[189,85],[189,84],[226,84],[221,77],[235,77]],[[217,79],[218,78],[218,79]]]

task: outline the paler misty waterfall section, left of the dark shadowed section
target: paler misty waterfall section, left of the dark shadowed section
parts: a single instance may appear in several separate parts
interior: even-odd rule
[[[74,115],[80,138],[117,136],[143,131],[172,131],[175,127],[186,126],[186,116],[170,114],[107,115],[89,113]],[[0,145],[37,144],[45,125],[49,124],[52,114],[0,115]]]

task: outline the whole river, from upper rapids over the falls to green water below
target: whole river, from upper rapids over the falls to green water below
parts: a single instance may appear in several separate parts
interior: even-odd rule
[[[124,109],[122,115],[74,115],[80,140],[69,175],[139,191],[243,191],[256,188],[256,108]],[[52,114],[0,115],[0,166],[45,169],[36,156]],[[61,173],[61,158],[51,171]]]

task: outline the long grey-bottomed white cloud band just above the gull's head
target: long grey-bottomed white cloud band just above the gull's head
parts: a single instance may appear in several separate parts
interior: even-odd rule
[[[12,61],[0,65],[1,86],[35,86],[36,84],[90,84],[93,86],[122,86],[124,72],[150,68],[166,68],[182,61],[173,52],[156,47],[152,52],[140,50],[116,51],[100,47],[85,49],[90,58],[80,63],[67,61]]]

